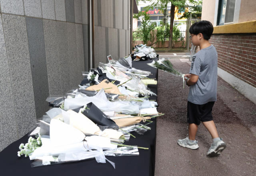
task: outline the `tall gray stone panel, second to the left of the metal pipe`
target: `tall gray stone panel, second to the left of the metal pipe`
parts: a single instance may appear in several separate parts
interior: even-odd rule
[[[74,23],[67,23],[67,36],[68,36],[68,55],[66,68],[68,71],[69,86],[70,89],[78,88],[81,79],[78,79],[78,76],[81,75],[78,69],[78,59],[76,51],[76,26]],[[70,90],[69,89],[69,90]]]

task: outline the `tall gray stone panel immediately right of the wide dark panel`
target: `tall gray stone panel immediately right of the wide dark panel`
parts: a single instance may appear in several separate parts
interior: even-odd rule
[[[58,56],[56,22],[43,20],[46,63],[50,95],[62,95],[61,68]]]

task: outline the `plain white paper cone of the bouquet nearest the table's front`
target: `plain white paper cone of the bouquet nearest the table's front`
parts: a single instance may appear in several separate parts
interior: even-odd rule
[[[60,120],[52,119],[50,123],[50,139],[53,147],[76,144],[84,140],[84,133]]]

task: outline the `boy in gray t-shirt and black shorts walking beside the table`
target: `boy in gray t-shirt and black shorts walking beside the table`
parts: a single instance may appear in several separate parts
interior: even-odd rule
[[[201,121],[213,138],[207,156],[218,156],[226,148],[226,144],[222,138],[219,138],[212,120],[212,107],[217,101],[218,71],[217,51],[208,41],[212,35],[213,26],[208,21],[200,21],[192,24],[189,32],[193,45],[199,46],[200,51],[192,57],[190,72],[185,75],[189,78],[186,83],[190,87],[188,136],[185,139],[179,139],[178,144],[194,150],[198,149],[198,141],[195,138]]]

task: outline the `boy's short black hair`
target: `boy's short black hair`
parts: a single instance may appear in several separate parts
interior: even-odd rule
[[[206,20],[195,22],[189,28],[189,33],[194,35],[201,33],[203,34],[205,40],[209,40],[213,33],[212,23]]]

